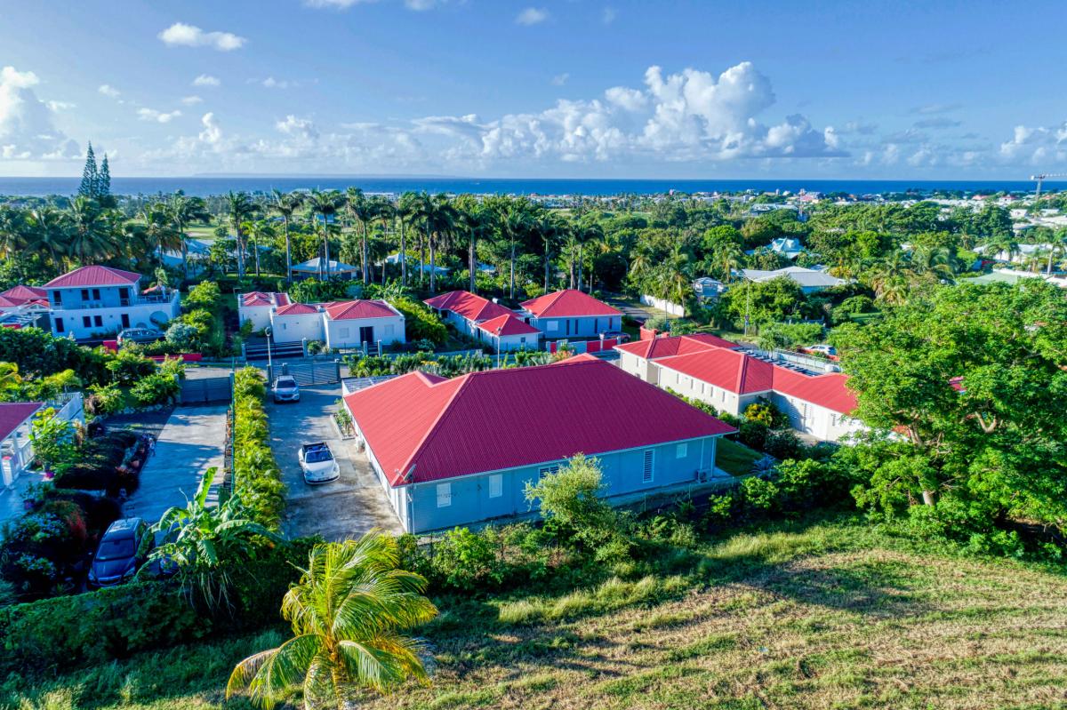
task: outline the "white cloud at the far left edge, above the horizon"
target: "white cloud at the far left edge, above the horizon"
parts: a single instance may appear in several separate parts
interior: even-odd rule
[[[52,110],[37,98],[32,71],[0,69],[0,159],[76,158],[77,144],[55,128]]]

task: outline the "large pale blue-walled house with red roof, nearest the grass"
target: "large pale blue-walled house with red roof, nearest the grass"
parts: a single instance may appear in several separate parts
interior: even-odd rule
[[[577,453],[599,459],[609,499],[727,477],[716,442],[736,431],[588,355],[452,380],[411,372],[345,406],[413,533],[525,514],[526,483]]]

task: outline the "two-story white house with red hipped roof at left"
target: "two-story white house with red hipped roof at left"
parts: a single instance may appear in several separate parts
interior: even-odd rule
[[[111,267],[81,267],[45,284],[52,334],[76,339],[114,335],[124,328],[162,329],[178,316],[177,290],[146,295],[141,274]]]

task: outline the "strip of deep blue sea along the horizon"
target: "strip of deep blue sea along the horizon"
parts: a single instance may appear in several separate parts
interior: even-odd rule
[[[0,177],[0,195],[70,195],[77,192],[80,177],[10,178]],[[1052,188],[1054,183],[1049,187]],[[235,176],[235,177],[114,177],[111,191],[120,195],[152,195],[184,190],[186,194],[206,197],[227,191],[289,192],[299,189],[344,190],[362,188],[368,193],[402,193],[408,190],[431,193],[472,193],[505,195],[654,195],[671,191],[695,192],[844,192],[851,195],[888,194],[918,191],[958,191],[965,193],[1033,192],[1029,180],[594,180],[522,179],[462,177],[360,177],[360,176]]]

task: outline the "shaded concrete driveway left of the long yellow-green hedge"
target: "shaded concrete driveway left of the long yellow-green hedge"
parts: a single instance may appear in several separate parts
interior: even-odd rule
[[[127,517],[156,522],[168,509],[184,506],[196,494],[204,472],[214,466],[222,479],[226,405],[175,409],[141,469],[141,486],[126,502]]]

